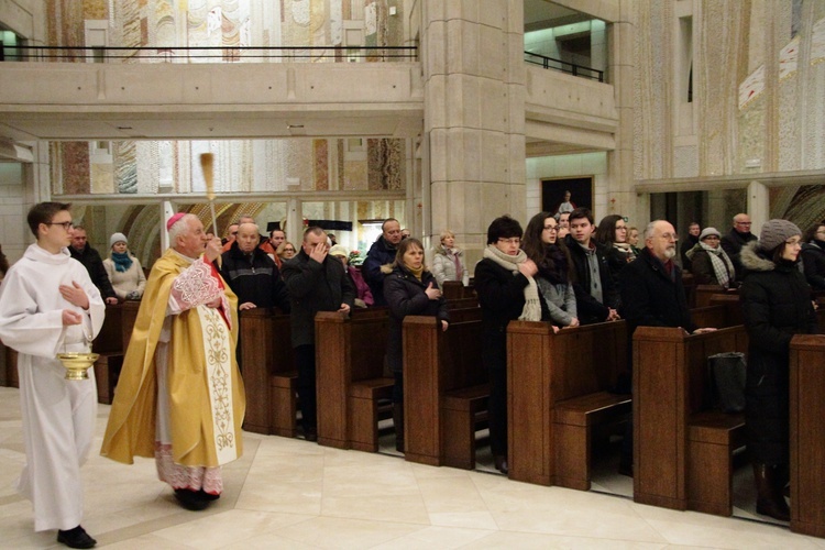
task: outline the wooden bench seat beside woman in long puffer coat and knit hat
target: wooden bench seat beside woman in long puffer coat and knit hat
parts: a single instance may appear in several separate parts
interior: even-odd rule
[[[691,415],[688,441],[688,508],[729,516],[734,451],[745,447],[745,415],[716,410]]]

